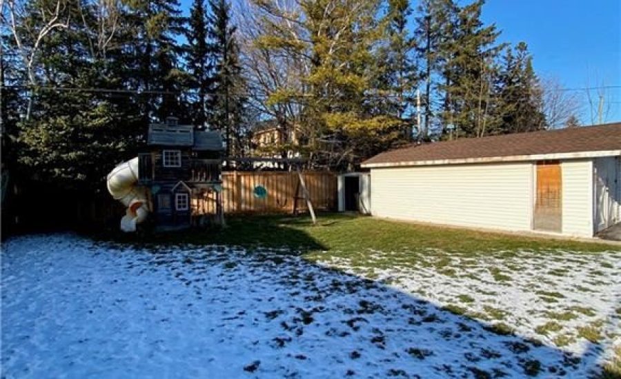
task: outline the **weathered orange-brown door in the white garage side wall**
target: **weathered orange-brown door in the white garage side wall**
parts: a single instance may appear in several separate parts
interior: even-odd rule
[[[562,181],[560,162],[538,162],[536,175],[537,188],[533,227],[535,230],[561,232]]]

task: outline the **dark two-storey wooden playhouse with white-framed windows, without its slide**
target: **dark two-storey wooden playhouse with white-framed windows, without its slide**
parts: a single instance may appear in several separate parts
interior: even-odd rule
[[[139,154],[139,185],[150,189],[152,220],[157,229],[183,229],[222,223],[219,132],[179,125],[175,117],[149,125],[148,151]],[[215,202],[215,214],[199,204]],[[212,207],[214,209],[214,207]]]

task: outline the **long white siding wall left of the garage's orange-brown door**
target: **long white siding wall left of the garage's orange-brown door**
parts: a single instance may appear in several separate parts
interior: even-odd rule
[[[371,170],[374,216],[466,227],[530,230],[530,162]]]

